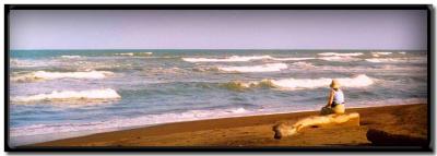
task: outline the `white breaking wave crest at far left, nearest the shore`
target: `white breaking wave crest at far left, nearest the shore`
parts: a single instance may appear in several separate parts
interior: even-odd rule
[[[39,100],[82,100],[82,99],[115,99],[120,98],[121,96],[117,94],[116,91],[111,88],[104,89],[88,89],[88,91],[54,91],[48,94],[37,94],[29,96],[16,96],[12,97],[11,101],[13,103],[31,103],[31,101],[39,101]]]

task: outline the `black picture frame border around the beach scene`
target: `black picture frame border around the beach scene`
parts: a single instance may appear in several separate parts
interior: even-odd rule
[[[11,10],[426,10],[428,146],[330,147],[16,147],[9,146],[9,13]],[[434,152],[434,10],[430,4],[5,4],[4,5],[4,149],[5,152]]]

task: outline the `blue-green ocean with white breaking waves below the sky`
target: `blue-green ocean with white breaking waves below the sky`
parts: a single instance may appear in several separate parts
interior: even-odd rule
[[[10,145],[160,123],[427,101],[427,52],[11,50]]]

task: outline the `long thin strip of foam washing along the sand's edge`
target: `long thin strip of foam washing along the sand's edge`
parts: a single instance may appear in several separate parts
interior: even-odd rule
[[[122,129],[139,125],[157,123],[192,121],[201,119],[228,118],[250,115],[245,108],[227,108],[213,110],[188,110],[185,112],[166,112],[162,115],[146,115],[137,118],[113,119],[88,123],[57,123],[57,124],[34,124],[22,128],[11,128],[11,136],[29,136],[38,134],[59,134],[64,132],[95,131]]]

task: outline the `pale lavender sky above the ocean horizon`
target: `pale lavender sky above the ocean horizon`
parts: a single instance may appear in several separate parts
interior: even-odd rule
[[[426,49],[423,10],[12,10],[11,49]]]

